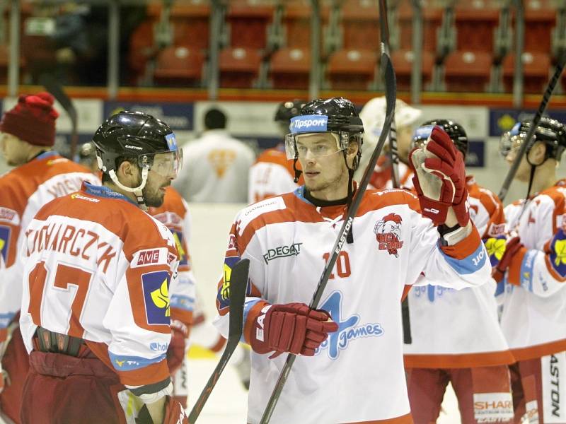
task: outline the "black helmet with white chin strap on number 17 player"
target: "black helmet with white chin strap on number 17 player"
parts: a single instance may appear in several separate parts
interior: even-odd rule
[[[175,134],[169,126],[149,114],[122,111],[113,114],[98,127],[93,136],[98,167],[118,187],[133,192],[140,205],[145,201],[144,189],[149,170],[163,177],[175,177],[183,164]],[[139,187],[125,187],[117,178],[120,158],[133,158],[141,170]]]

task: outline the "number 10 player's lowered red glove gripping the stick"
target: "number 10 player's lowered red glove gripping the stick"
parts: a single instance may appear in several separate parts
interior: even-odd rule
[[[266,305],[255,319],[251,346],[257,353],[275,351],[270,358],[283,352],[313,356],[328,333],[337,329],[328,312],[311,310],[304,303]]]

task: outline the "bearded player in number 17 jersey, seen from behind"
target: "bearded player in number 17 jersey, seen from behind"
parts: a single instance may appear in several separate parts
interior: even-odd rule
[[[182,156],[139,112],[93,137],[103,186],[44,206],[25,230],[21,329],[30,353],[23,423],[187,423],[168,395],[178,251],[142,209],[159,207]]]

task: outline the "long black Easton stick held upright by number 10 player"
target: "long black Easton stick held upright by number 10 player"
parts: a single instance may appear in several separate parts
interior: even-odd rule
[[[385,19],[386,17],[384,16],[383,18]],[[336,239],[336,242],[334,243],[334,247],[332,249],[333,254],[325,265],[325,269],[322,273],[322,276],[320,276],[320,280],[318,281],[318,285],[316,286],[316,290],[313,294],[313,299],[308,305],[311,309],[316,309],[316,307],[318,307],[318,303],[323,296],[323,292],[326,287],[326,283],[328,283],[330,273],[332,273],[334,265],[336,264],[336,259],[340,254],[340,251],[342,250],[342,246],[346,242],[346,238],[348,236],[348,233],[350,232],[350,229],[352,228],[354,216],[356,215],[356,212],[359,208],[359,204],[362,202],[364,192],[366,191],[367,184],[369,183],[369,178],[371,177],[372,172],[374,172],[377,158],[381,154],[381,150],[383,149],[383,145],[385,144],[385,141],[387,139],[387,134],[389,134],[389,129],[391,128],[396,97],[395,71],[393,69],[393,64],[391,63],[391,58],[383,47],[383,42],[381,42],[381,66],[383,66],[384,69],[383,76],[386,82],[386,119],[385,122],[383,122],[383,128],[381,129],[381,134],[379,136],[377,146],[374,150],[374,153],[371,154],[369,164],[367,165],[366,171],[364,172],[364,177],[362,177],[362,181],[360,182],[359,187],[356,190],[356,194],[354,195],[354,199],[352,200],[352,206],[350,206],[350,208],[348,209],[347,216],[344,219],[342,228],[340,228],[339,235]],[[295,359],[296,355],[292,353],[289,353],[289,355],[287,355],[285,365],[281,373],[279,374],[277,384],[275,384],[275,388],[273,389],[271,397],[267,402],[267,406],[265,408],[265,411],[263,412],[260,424],[267,424],[270,422],[271,416],[273,415],[273,411],[275,411],[275,406],[277,406],[277,401],[279,401],[279,396],[281,396],[284,384],[285,382],[287,382],[289,372],[291,372],[291,367],[293,367]]]

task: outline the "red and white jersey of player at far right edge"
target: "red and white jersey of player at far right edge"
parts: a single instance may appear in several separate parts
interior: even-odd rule
[[[517,360],[566,351],[565,181],[523,205],[505,208],[507,229],[526,249],[512,259],[501,293],[501,326]]]

